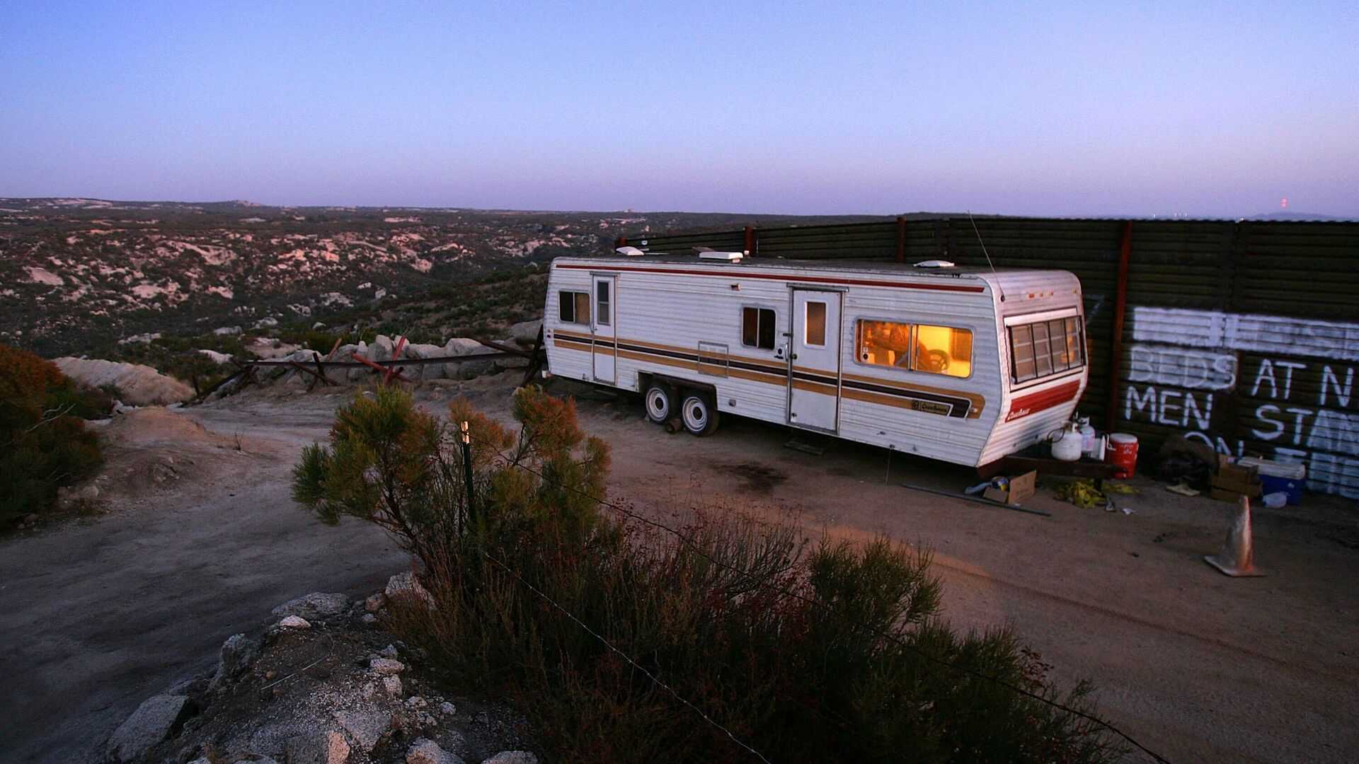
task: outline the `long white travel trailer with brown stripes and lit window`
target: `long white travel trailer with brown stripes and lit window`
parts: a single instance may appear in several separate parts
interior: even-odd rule
[[[696,435],[720,412],[968,466],[1046,438],[1087,381],[1065,271],[563,257],[544,340],[550,374],[639,392]]]

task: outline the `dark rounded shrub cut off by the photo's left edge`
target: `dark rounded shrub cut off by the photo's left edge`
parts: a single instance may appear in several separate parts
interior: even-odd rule
[[[101,405],[52,362],[0,344],[0,529],[50,510],[57,488],[94,474],[99,439],[82,417]]]

